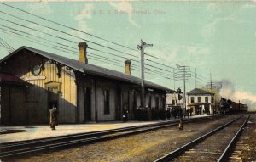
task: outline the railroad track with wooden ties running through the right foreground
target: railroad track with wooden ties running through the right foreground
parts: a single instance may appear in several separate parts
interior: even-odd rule
[[[245,119],[246,118],[246,119]],[[240,116],[213,131],[186,143],[154,162],[226,161],[249,116]]]

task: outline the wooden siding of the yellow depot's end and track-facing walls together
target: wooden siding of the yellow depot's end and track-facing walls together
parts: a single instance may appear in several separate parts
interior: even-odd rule
[[[35,64],[41,64],[42,62],[44,63],[44,70],[38,76],[32,75],[30,72],[32,67]],[[26,116],[30,124],[49,122],[49,93],[46,86],[51,82],[61,84],[61,92],[58,94],[60,123],[84,123],[84,98],[86,98],[84,96],[84,88],[86,87],[90,88],[90,117],[92,121],[120,120],[124,109],[122,104],[122,92],[124,91],[127,91],[129,95],[129,109],[133,109],[134,106],[132,104],[132,92],[136,92],[137,94],[137,97],[135,97],[137,98],[137,107],[141,104],[139,87],[133,87],[131,84],[102,79],[96,76],[83,75],[81,77],[82,79],[79,80],[79,87],[77,88],[73,70],[67,70],[66,67],[62,67],[61,77],[59,78],[56,65],[50,61],[46,61],[38,55],[20,53],[20,55],[15,56],[14,59],[9,59],[4,66],[5,68],[1,67],[1,70],[20,76],[20,78],[34,85],[33,87],[27,87],[26,90]],[[45,76],[45,79],[39,79],[40,76]],[[26,80],[27,78],[33,78],[33,80]],[[105,89],[109,90],[109,115],[104,115],[103,90]],[[78,98],[77,93],[79,95]],[[145,93],[148,95],[148,92]],[[155,98],[158,97],[161,100],[163,92],[150,93],[151,107],[156,107]],[[146,102],[148,102],[148,98],[146,98]],[[159,104],[162,104],[162,102],[159,101]],[[159,105],[159,108],[160,107],[161,105]]]

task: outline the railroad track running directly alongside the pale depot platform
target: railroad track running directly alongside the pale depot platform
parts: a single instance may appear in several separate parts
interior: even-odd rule
[[[185,119],[184,122],[186,123],[199,120],[204,120],[204,118]],[[79,133],[69,136],[51,137],[39,140],[30,140],[25,142],[3,143],[0,145],[0,158],[7,159],[19,155],[42,153],[44,151],[49,151],[52,149],[63,149],[73,147],[79,144],[101,142],[118,137],[125,137],[133,134],[143,133],[146,131],[154,131],[156,129],[164,128],[167,126],[177,126],[177,123],[178,121],[166,121],[146,126],[131,126],[108,131]]]

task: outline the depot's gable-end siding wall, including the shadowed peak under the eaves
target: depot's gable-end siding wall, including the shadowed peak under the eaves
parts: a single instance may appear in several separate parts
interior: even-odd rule
[[[44,63],[44,70],[38,76],[45,76],[46,79],[37,79],[31,73],[32,67],[36,64]],[[61,68],[61,77],[57,75],[56,65],[36,54],[20,52],[15,57],[11,57],[1,65],[1,71],[15,74],[21,79],[32,83],[32,87],[26,90],[26,116],[29,124],[49,122],[49,103],[46,83],[61,83],[61,93],[59,93],[58,109],[60,112],[60,123],[74,123],[76,119],[77,87],[74,82],[73,70]],[[33,80],[26,80],[26,77],[33,77]]]

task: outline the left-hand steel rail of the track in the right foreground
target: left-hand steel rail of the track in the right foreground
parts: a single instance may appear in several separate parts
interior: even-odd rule
[[[182,147],[177,148],[176,150],[172,151],[169,154],[166,154],[165,156],[154,160],[154,162],[166,162],[166,161],[170,161],[174,158],[176,158],[178,155],[183,154],[183,152],[185,152],[186,150],[188,150],[189,148],[192,148],[193,146],[195,146],[197,143],[203,141],[204,139],[206,139],[207,137],[212,136],[212,134],[224,129],[224,127],[229,126],[231,123],[235,122],[236,120],[240,119],[241,116],[239,116],[238,118],[236,118],[235,120],[231,120],[230,122],[224,124],[223,126],[219,126],[218,128],[214,129],[213,131],[208,132],[207,134],[202,135],[201,137],[196,138],[195,140],[184,144]]]

